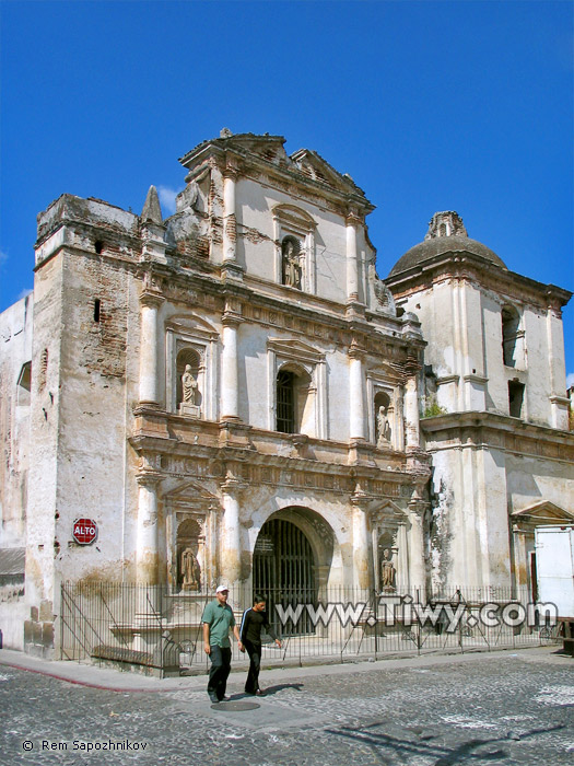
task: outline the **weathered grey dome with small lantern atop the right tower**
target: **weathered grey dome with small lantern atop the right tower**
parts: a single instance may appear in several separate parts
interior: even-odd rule
[[[499,258],[496,253],[491,251],[490,247],[468,236],[467,230],[462,225],[462,219],[456,212],[446,211],[437,212],[433,216],[424,242],[407,251],[397,260],[390,270],[389,277],[414,268],[437,255],[447,253],[471,253],[495,266],[506,268],[502,258]]]

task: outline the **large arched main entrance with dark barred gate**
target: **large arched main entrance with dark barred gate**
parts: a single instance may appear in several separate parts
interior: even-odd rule
[[[286,519],[270,519],[259,532],[254,550],[254,593],[267,599],[267,613],[276,629],[280,625],[276,604],[283,608],[297,604],[315,604],[317,601],[316,561],[307,536],[296,524]],[[312,632],[306,611],[289,632]]]

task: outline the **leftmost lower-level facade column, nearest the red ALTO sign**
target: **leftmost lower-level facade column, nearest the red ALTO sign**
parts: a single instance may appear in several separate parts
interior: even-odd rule
[[[136,579],[144,584],[157,583],[157,485],[159,476],[137,476],[138,536],[136,554]]]

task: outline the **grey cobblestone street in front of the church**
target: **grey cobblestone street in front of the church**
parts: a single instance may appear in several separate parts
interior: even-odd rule
[[[79,682],[97,677],[77,668]],[[259,707],[230,710],[211,707],[204,677],[108,690],[4,664],[0,763],[552,766],[574,755],[574,663],[555,649],[268,671],[256,700],[244,681],[232,674],[232,701]]]

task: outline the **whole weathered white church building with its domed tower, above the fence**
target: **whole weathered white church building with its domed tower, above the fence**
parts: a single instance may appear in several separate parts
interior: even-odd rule
[[[39,214],[0,318],[4,646],[58,645],[66,581],[530,584],[574,520],[570,293],[452,212],[382,280],[364,193],[283,143],[199,144],[167,219],[153,187]]]

